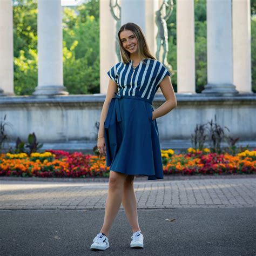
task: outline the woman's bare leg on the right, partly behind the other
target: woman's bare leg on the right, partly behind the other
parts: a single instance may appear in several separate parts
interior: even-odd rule
[[[137,213],[137,200],[133,188],[134,176],[129,175],[124,181],[124,192],[122,204],[124,206],[125,214],[132,227],[132,232],[140,231],[138,213]]]

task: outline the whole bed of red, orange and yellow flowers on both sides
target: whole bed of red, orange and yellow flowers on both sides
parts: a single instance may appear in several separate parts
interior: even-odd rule
[[[164,174],[252,174],[256,171],[256,151],[235,156],[189,148],[185,154],[161,150]],[[44,153],[2,154],[0,176],[21,177],[109,177],[105,156],[48,150]]]

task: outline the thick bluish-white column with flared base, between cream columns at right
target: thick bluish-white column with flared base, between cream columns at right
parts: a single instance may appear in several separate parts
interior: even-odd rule
[[[233,96],[231,0],[207,0],[207,85],[203,94]]]

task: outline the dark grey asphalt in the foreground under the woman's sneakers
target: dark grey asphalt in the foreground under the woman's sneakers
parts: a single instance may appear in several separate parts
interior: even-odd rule
[[[140,209],[143,249],[130,248],[131,228],[120,210],[110,248],[91,251],[103,218],[104,210],[2,210],[0,255],[256,255],[252,207]]]

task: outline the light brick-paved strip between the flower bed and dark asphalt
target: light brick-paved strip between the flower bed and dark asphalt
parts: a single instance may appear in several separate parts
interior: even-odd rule
[[[255,207],[256,178],[135,181],[138,208]],[[0,209],[105,208],[108,183],[0,180]]]

